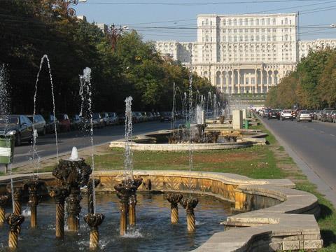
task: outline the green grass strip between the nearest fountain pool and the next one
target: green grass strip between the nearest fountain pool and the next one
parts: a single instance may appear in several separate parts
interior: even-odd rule
[[[263,125],[251,129],[267,132],[269,145],[238,150],[195,152],[193,170],[235,173],[253,179],[290,179],[298,190],[307,191],[318,197],[321,207],[318,225],[325,246],[321,251],[336,251],[336,214],[332,204],[317,192],[316,186],[307,180],[284,148],[279,146],[275,137]],[[87,158],[87,162],[91,162],[90,158]],[[135,151],[133,162],[134,169],[188,170],[189,153]],[[106,149],[94,157],[96,170],[123,169],[123,164],[124,151],[120,148]],[[45,167],[42,170],[50,172],[52,167]]]

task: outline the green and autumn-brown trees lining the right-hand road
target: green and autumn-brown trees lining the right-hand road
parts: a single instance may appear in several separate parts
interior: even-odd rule
[[[323,109],[336,106],[336,50],[320,48],[301,59],[295,71],[272,87],[267,106]]]

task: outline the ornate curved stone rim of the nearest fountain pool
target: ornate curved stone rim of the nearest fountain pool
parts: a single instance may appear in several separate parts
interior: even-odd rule
[[[101,186],[97,187],[97,192],[113,192],[113,186],[118,182],[120,174],[123,174],[123,171],[95,172],[95,178],[102,181]],[[134,175],[144,179],[139,191],[148,191],[151,188],[151,190],[161,192],[188,192],[189,172],[134,171]],[[229,216],[226,220],[223,219],[224,225],[246,227],[216,232],[204,244],[196,248],[196,251],[237,251],[238,249],[239,251],[266,251],[266,248],[269,251],[269,249],[321,248],[323,241],[314,217],[319,214],[318,201],[310,193],[293,189],[295,185],[291,181],[287,179],[249,179],[246,176],[236,174],[211,172],[191,172],[190,175],[195,193],[228,200],[235,205],[235,210],[243,211],[241,214]],[[29,176],[31,175],[16,175],[15,179],[21,180],[29,178]],[[40,178],[48,185],[55,183],[50,173],[40,174]],[[8,180],[8,176],[3,176],[0,182],[8,182]],[[149,181],[151,181],[151,187],[148,186]],[[1,186],[0,190],[6,190],[6,188],[3,189]],[[98,202],[99,204],[101,203]],[[195,209],[196,216],[202,211],[202,208],[197,208]],[[115,211],[118,209],[116,208]],[[109,214],[106,216],[106,221],[108,216]],[[139,219],[139,223],[141,223],[141,219]],[[168,215],[167,223],[169,223]],[[104,225],[106,223],[102,227]],[[88,242],[88,239],[86,240]],[[188,239],[179,239],[178,241],[190,242]],[[148,242],[151,240],[149,239]],[[190,247],[190,250],[193,248],[195,247]]]

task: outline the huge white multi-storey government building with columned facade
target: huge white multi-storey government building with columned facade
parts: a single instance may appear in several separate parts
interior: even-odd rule
[[[265,93],[295,69],[309,49],[336,39],[300,41],[297,14],[198,15],[197,41],[156,41],[156,50],[190,66],[222,92]]]

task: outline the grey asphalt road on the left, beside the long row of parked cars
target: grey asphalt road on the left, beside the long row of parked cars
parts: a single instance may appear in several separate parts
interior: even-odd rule
[[[147,122],[133,125],[133,134],[144,134],[155,130],[167,130],[170,123]],[[108,126],[102,129],[94,129],[94,145],[109,143],[110,141],[123,139],[125,137],[125,126]],[[78,149],[91,146],[90,137],[81,131],[58,134],[59,154],[70,153],[73,146]],[[41,159],[56,156],[55,134],[47,134],[37,139],[37,153]],[[31,158],[31,145],[22,143],[22,146],[15,147],[13,167],[19,167],[29,162]],[[3,167],[1,167],[3,169]]]

